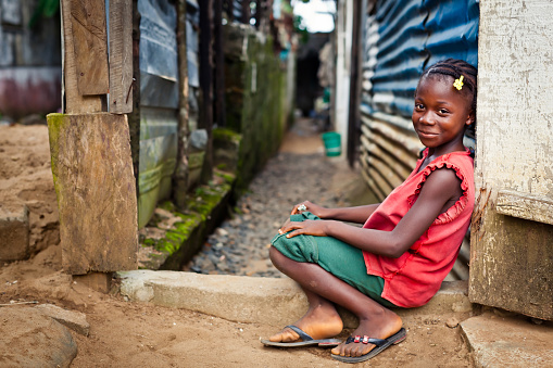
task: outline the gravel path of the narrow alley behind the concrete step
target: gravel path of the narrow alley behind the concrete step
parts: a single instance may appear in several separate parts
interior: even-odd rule
[[[282,277],[268,259],[271,239],[304,200],[348,204],[347,188],[361,180],[343,158],[327,157],[316,122],[298,118],[278,155],[251,182],[234,212],[183,270],[200,274]]]

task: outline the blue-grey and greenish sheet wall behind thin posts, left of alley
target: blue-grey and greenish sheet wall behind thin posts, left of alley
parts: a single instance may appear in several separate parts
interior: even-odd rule
[[[168,0],[139,0],[140,12],[140,157],[138,226],[150,219],[158,201],[171,195],[177,155],[177,14]],[[187,1],[189,127],[199,119],[199,8]]]

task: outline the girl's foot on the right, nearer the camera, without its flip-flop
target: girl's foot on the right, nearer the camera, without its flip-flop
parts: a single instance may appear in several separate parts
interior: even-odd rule
[[[360,325],[353,331],[352,337],[368,337],[373,339],[388,339],[391,335],[400,331],[402,327],[402,320],[395,313],[385,309],[382,316],[372,316],[372,318],[360,318]],[[373,348],[374,344],[360,343],[341,343],[340,345],[332,348],[334,355],[345,356],[345,357],[359,357],[368,354]]]

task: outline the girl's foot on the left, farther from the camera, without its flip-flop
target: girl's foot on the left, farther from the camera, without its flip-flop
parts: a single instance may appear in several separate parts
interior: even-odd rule
[[[331,305],[310,308],[293,326],[300,328],[315,340],[336,337],[342,331],[342,319]],[[298,342],[300,335],[289,328],[272,335],[272,342]]]

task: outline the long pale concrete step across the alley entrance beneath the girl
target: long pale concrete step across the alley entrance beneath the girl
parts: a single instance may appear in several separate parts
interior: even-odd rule
[[[135,270],[117,272],[121,294],[130,301],[197,310],[237,322],[281,327],[307,309],[300,287],[289,278],[254,278],[230,275],[199,275],[179,271]],[[466,281],[443,282],[425,306],[398,308],[400,316],[443,315],[472,312]],[[339,310],[347,328],[355,317]]]

